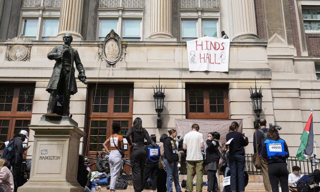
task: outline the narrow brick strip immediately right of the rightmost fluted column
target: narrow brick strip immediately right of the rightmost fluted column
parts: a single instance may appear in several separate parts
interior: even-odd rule
[[[266,38],[263,1],[264,0],[255,0],[257,34],[258,34],[259,38],[261,38],[261,39]]]

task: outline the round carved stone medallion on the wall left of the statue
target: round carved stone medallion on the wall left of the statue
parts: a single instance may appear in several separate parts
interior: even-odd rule
[[[18,35],[8,39],[5,59],[7,61],[30,61],[32,40]]]

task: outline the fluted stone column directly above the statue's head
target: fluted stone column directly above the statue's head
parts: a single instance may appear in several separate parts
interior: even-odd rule
[[[74,38],[81,38],[84,0],[62,0],[58,37],[70,33]]]

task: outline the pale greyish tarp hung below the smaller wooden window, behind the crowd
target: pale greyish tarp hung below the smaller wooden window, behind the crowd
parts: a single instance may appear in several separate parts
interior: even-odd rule
[[[229,132],[229,126],[232,122],[239,124],[239,132],[242,132],[242,119],[186,119],[176,118],[175,127],[178,134],[183,136],[191,131],[192,124],[198,124],[200,127],[199,132],[203,134],[204,141],[207,139],[209,132],[220,133],[220,142],[226,143],[226,135]]]

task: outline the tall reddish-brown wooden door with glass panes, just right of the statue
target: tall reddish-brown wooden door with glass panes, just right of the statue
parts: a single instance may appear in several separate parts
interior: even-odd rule
[[[87,154],[95,155],[104,150],[102,144],[112,135],[112,123],[120,124],[122,136],[132,126],[133,86],[89,86],[88,104]]]

